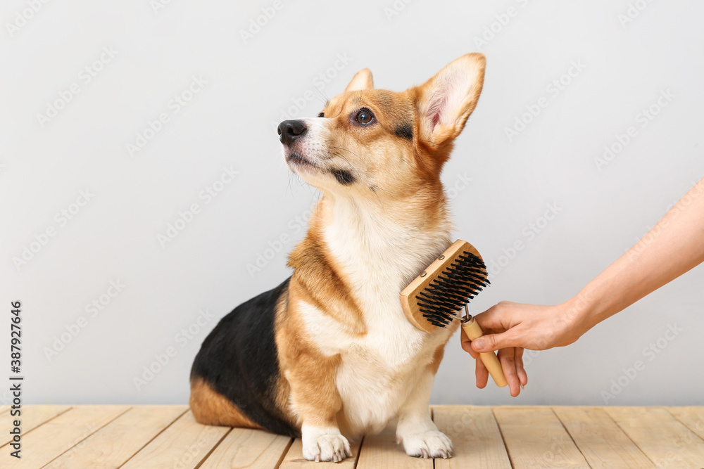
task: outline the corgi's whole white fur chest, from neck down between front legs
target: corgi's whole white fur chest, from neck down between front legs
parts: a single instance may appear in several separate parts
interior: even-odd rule
[[[352,432],[382,430],[396,416],[418,377],[453,328],[425,333],[401,308],[399,293],[449,245],[448,233],[417,233],[408,226],[337,205],[325,242],[341,266],[360,309],[367,333],[353,337],[334,319],[306,305],[315,342],[326,354],[339,354],[337,388]],[[322,318],[321,316],[325,316]]]

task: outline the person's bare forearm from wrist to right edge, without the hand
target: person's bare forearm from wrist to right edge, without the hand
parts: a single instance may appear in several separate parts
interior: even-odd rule
[[[570,300],[582,332],[704,261],[704,179]]]

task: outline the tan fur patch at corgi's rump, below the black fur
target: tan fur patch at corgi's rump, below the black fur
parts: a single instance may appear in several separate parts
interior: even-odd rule
[[[191,383],[191,411],[196,421],[203,425],[260,428],[232,404],[230,399],[213,390],[203,380]]]

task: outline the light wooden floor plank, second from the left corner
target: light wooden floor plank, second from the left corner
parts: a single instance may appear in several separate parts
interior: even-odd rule
[[[130,406],[75,406],[24,435],[22,458],[3,458],[2,467],[41,468],[128,410]]]

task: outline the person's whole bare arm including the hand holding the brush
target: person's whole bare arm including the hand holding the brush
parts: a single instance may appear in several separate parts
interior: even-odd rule
[[[506,347],[543,350],[569,345],[596,324],[703,261],[704,179],[691,188],[633,248],[571,300],[555,306],[496,304],[476,316],[484,337],[470,345],[463,336],[463,348],[474,355],[473,352]],[[482,371],[479,368],[478,384]],[[512,375],[516,374],[515,368]],[[518,371],[525,374],[522,366]],[[506,374],[508,378],[509,373]]]

